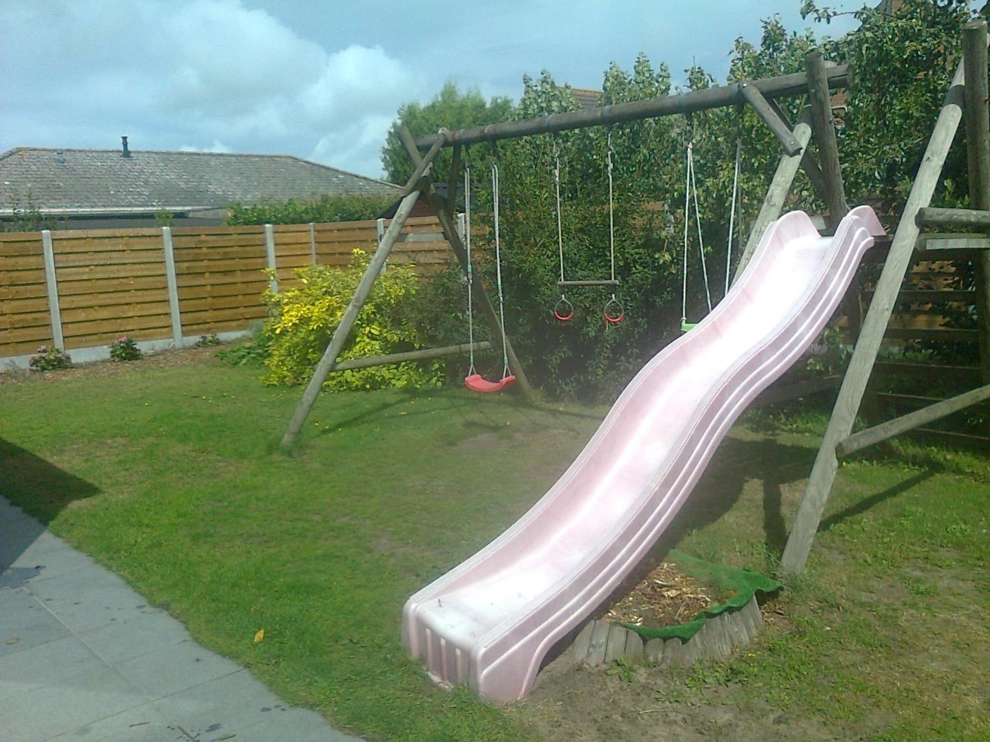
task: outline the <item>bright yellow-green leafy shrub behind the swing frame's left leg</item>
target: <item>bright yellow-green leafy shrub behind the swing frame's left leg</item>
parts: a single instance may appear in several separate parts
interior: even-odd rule
[[[346,269],[327,265],[299,268],[302,286],[266,292],[268,319],[266,384],[305,383],[340,324],[361,276],[370,261],[354,250]],[[412,266],[389,266],[375,281],[340,358],[363,358],[423,347],[425,338],[410,322],[410,301],[420,288]],[[338,391],[386,387],[436,386],[443,380],[443,363],[413,362],[335,372],[324,387]]]

